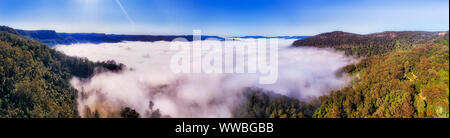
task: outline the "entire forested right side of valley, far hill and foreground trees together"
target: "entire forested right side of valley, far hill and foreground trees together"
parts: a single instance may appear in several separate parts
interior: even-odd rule
[[[332,32],[298,40],[294,45],[335,48],[365,57],[342,69],[352,76],[351,85],[310,102],[249,89],[248,101],[235,116],[448,118],[448,39],[447,32]]]

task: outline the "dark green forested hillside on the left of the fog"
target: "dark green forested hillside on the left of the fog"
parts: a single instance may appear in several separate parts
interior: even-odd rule
[[[123,67],[68,57],[18,34],[0,26],[0,118],[79,117],[69,80]]]

